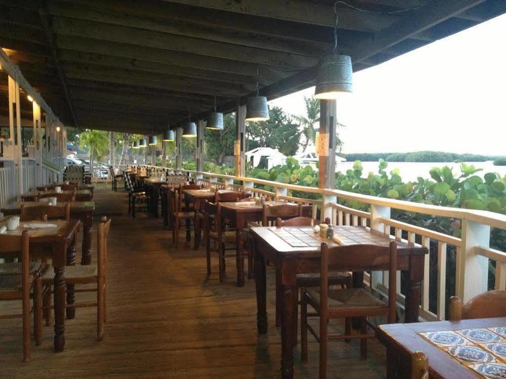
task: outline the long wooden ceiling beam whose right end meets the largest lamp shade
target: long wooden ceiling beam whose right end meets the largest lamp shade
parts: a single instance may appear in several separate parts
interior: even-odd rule
[[[81,36],[120,44],[187,52],[214,58],[226,58],[258,65],[304,68],[318,63],[317,57],[312,56],[276,52],[211,40],[203,41],[194,37],[86,20],[56,17],[53,20],[53,28],[55,33],[59,35]],[[58,44],[58,46],[60,45]]]

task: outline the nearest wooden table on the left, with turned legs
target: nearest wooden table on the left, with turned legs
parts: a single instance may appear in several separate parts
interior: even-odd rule
[[[9,216],[0,221],[0,226],[6,226]],[[37,221],[41,223],[41,221]],[[32,221],[20,222],[19,227],[7,231],[8,235],[21,235],[24,225]],[[54,315],[55,336],[54,349],[61,352],[65,347],[65,304],[74,304],[73,285],[68,285],[65,291],[65,266],[75,265],[75,237],[79,231],[79,220],[51,220],[48,224],[54,224],[54,228],[29,229],[30,235],[30,259],[51,259],[54,267]],[[2,258],[7,258],[2,255]],[[65,297],[66,292],[66,297]],[[66,298],[66,302],[65,302]],[[74,307],[67,308],[67,318],[73,318]]]

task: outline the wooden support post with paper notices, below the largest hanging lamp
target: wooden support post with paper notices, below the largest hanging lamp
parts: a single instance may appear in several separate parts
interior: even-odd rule
[[[336,115],[335,100],[320,100],[320,144],[317,153],[320,155],[318,165],[318,187],[335,188],[336,162]]]

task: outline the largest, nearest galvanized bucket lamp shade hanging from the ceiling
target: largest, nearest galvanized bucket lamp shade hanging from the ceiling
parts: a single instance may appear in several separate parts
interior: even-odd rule
[[[328,55],[320,59],[315,99],[335,100],[353,92],[352,59],[347,55]]]

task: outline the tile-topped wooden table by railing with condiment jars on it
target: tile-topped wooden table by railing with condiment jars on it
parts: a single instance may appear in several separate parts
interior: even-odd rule
[[[374,244],[388,246],[391,237],[359,226],[334,226],[334,234],[343,245]],[[279,270],[279,293],[281,296],[281,376],[293,377],[294,330],[297,312],[297,274],[320,272],[320,246],[337,243],[313,233],[312,227],[253,227],[253,249],[255,254],[255,282],[257,298],[257,329],[259,334],[267,333],[266,311],[266,267],[269,260]],[[280,233],[284,232],[284,233]],[[287,235],[289,235],[287,237]],[[420,281],[423,278],[423,260],[427,249],[412,242],[398,241],[397,267],[401,270],[408,290],[406,293],[406,314],[408,322],[418,321],[420,304]],[[352,271],[354,286],[363,286],[364,271],[388,270],[388,264],[373,265],[360,256],[342,255],[339,265],[333,271]]]

